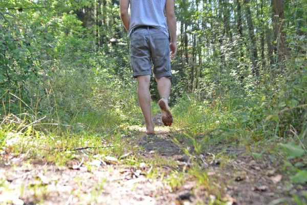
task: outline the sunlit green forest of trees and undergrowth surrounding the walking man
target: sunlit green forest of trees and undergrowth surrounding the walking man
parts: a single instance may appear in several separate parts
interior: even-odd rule
[[[200,153],[217,143],[260,146],[253,157],[282,158],[293,182],[305,183],[306,164],[295,162],[307,146],[307,2],[175,3],[176,135]],[[142,124],[117,0],[0,1],[0,67],[3,149],[16,135],[116,135]],[[150,90],[155,104],[153,78]]]

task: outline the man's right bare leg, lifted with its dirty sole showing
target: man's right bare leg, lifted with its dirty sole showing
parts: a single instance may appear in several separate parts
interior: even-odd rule
[[[168,98],[170,94],[171,82],[168,77],[156,78],[158,83],[158,91],[161,99],[159,100],[159,106],[162,111],[162,121],[165,126],[171,126],[172,115],[168,108]]]

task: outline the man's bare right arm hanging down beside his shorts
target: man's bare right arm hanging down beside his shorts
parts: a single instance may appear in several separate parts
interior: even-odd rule
[[[169,44],[171,50],[170,58],[176,55],[177,52],[177,22],[176,22],[176,15],[174,9],[174,0],[166,0],[165,4],[165,13],[166,13],[166,20],[167,20],[167,27],[170,33],[171,42]]]

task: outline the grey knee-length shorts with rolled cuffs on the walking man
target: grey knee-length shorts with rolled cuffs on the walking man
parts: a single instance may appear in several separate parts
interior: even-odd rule
[[[130,35],[130,60],[133,76],[169,77],[170,48],[168,37],[158,28],[139,28]]]

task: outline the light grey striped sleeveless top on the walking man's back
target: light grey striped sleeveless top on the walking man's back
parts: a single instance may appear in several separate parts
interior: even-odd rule
[[[130,0],[129,35],[138,26],[152,26],[168,37],[165,3],[166,0]]]

